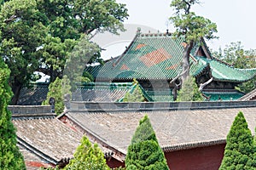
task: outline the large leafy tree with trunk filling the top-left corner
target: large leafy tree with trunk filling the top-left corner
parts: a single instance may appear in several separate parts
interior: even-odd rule
[[[0,11],[0,54],[9,65],[10,86],[15,105],[22,85],[33,81],[38,68],[38,47],[43,44],[47,28],[42,24],[35,0],[11,0]]]

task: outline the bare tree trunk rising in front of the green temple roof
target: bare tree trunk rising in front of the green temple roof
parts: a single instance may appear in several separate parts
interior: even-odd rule
[[[181,77],[182,79],[181,87],[183,86],[183,82],[189,77],[189,71],[190,71],[189,54],[191,52],[191,49],[193,48],[193,45],[194,45],[194,42],[189,42],[183,54],[183,75]]]

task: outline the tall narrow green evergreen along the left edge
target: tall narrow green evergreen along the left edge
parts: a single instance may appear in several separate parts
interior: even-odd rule
[[[0,59],[0,169],[26,169],[23,156],[17,147],[15,127],[11,122],[11,112],[7,106],[12,92],[9,87],[10,71]]]

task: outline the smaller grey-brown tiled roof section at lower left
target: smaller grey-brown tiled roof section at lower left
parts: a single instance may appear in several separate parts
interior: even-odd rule
[[[53,164],[72,158],[82,138],[55,117],[15,118],[13,123],[18,143]]]

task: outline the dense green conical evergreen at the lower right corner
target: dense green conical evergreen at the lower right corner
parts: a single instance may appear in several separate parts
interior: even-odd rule
[[[255,146],[247,122],[239,112],[227,136],[224,158],[219,169],[256,169]]]

